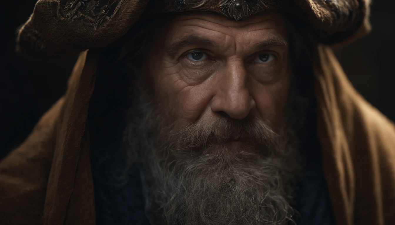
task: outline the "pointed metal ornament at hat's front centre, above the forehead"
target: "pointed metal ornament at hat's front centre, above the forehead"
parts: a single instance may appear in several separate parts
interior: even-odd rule
[[[251,1],[256,4],[256,1]],[[226,17],[241,20],[251,15],[250,1],[245,0],[224,0],[220,2],[221,11]]]

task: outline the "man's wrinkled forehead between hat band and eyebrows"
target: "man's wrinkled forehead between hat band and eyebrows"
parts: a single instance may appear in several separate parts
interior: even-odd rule
[[[165,37],[167,43],[191,35],[253,41],[264,36],[286,39],[287,33],[286,18],[277,11],[258,13],[239,21],[211,12],[173,13],[166,23],[160,33],[164,35],[162,37]]]

